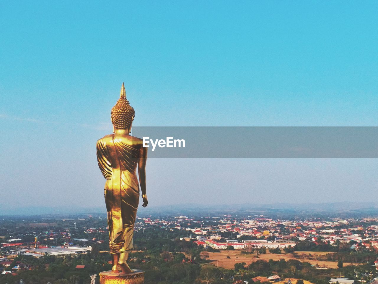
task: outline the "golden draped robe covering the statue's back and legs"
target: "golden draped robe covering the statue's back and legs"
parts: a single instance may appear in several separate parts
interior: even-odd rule
[[[132,138],[132,136],[130,136]],[[141,145],[116,134],[97,141],[97,161],[105,182],[104,196],[108,212],[111,253],[131,251],[136,210],[139,204],[139,183],[136,167]],[[115,249],[112,245],[121,245]]]

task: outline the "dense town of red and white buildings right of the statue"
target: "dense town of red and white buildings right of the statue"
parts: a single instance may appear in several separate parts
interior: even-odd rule
[[[378,252],[378,225],[368,225],[375,219],[272,220],[264,216],[245,218],[186,217],[140,218],[137,229],[160,226],[170,230],[187,230],[188,237],[198,245],[217,249],[287,248],[298,241],[315,245],[350,244],[350,249],[366,248]],[[375,220],[377,221],[377,220]]]

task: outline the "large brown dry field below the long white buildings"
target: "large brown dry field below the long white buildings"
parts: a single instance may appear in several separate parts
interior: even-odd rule
[[[332,261],[317,261],[316,259],[309,259],[309,254],[312,256],[318,255],[324,255],[328,252],[314,252],[314,251],[296,251],[299,255],[307,255],[304,258],[298,259],[299,261],[307,261],[311,264],[315,265],[318,264],[320,267],[324,268],[337,268],[337,262]],[[230,258],[227,258],[229,256]],[[238,250],[229,250],[229,251],[221,251],[220,253],[209,253],[209,260],[211,261],[211,264],[223,267],[227,269],[234,268],[234,264],[237,262],[245,262],[247,265],[251,264],[253,261],[256,261],[258,259],[262,259],[265,261],[268,261],[269,259],[273,259],[274,261],[280,260],[280,259],[296,259],[293,257],[293,254],[273,254],[273,253],[266,253],[266,254],[259,254],[259,258],[256,258],[256,253],[254,254],[241,254]],[[310,257],[311,258],[311,257]],[[351,263],[344,262],[344,266],[351,265]],[[356,264],[358,265],[358,264]]]

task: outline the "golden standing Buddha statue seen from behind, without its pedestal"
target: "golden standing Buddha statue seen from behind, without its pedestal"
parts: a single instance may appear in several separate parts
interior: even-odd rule
[[[142,139],[130,136],[135,111],[126,99],[125,85],[111,111],[113,134],[97,141],[97,160],[105,182],[105,204],[108,212],[109,247],[113,256],[112,273],[133,273],[127,258],[133,248],[139,184],[143,207],[146,195],[147,148]],[[138,167],[139,183],[136,177]]]

